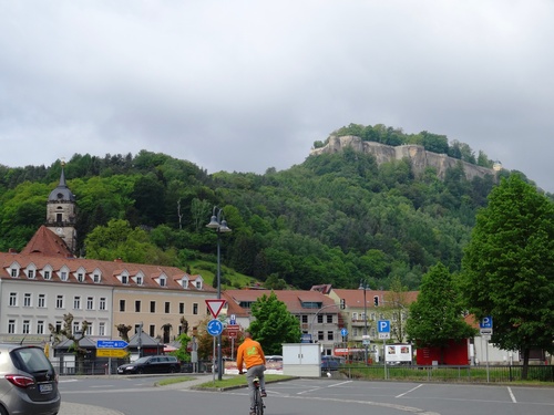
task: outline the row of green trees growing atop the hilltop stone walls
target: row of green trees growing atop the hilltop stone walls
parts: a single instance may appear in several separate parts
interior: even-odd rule
[[[428,152],[447,154],[452,158],[458,158],[478,166],[492,168],[494,165],[494,162],[490,160],[484,152],[479,151],[475,156],[475,152],[468,144],[456,139],[449,142],[445,135],[433,134],[427,131],[422,131],[418,134],[406,134],[402,128],[387,127],[383,124],[376,124],[373,126],[350,124],[331,133],[331,136],[341,137],[345,135],[355,135],[366,142],[381,143],[389,146],[414,144],[422,146]],[[328,141],[329,138],[325,142],[316,141],[314,147],[324,147]]]

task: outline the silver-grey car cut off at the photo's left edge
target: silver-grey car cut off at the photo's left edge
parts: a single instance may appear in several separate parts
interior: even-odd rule
[[[42,347],[0,344],[0,414],[55,415],[58,375]]]

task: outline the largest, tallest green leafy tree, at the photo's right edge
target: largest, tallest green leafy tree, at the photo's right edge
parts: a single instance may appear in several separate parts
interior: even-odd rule
[[[554,351],[554,205],[520,176],[503,178],[476,217],[462,260],[462,289],[492,342],[523,353]]]

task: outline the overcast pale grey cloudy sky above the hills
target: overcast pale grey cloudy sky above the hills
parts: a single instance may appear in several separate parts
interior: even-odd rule
[[[0,164],[261,174],[384,124],[554,193],[553,21],[552,0],[0,0]]]

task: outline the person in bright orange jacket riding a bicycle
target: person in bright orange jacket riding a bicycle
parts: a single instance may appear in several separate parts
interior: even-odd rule
[[[264,371],[266,370],[266,356],[259,343],[252,339],[250,332],[244,333],[244,342],[237,350],[237,367],[238,374],[243,374],[243,363],[246,366],[246,381],[248,382],[248,393],[250,395],[250,415],[256,415],[254,412],[254,378],[258,377],[259,387],[263,397],[266,397],[266,381]]]

